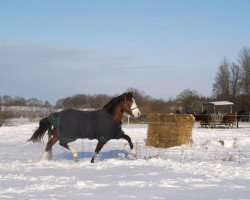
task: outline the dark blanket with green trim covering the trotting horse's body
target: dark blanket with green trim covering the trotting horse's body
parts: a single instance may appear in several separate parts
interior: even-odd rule
[[[124,133],[121,123],[114,121],[104,109],[96,111],[65,109],[52,113],[48,119],[58,130],[60,144],[67,144],[78,138],[97,139],[106,143],[110,139],[120,139]]]

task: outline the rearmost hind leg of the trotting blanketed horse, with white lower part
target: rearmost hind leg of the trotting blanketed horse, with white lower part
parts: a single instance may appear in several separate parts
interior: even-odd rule
[[[49,141],[46,145],[45,151],[44,151],[40,161],[50,160],[52,158],[52,147],[58,141],[58,135],[57,135],[56,129],[52,129],[49,132],[48,138],[49,138]]]

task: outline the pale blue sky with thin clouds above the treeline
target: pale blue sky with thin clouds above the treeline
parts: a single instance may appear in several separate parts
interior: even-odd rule
[[[0,95],[211,96],[250,48],[249,0],[0,0]]]

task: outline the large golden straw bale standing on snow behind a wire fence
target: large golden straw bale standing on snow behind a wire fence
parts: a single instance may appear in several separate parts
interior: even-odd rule
[[[189,144],[194,125],[192,115],[148,115],[147,146],[169,148]]]

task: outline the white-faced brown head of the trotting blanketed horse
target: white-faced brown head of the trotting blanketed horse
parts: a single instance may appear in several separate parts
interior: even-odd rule
[[[138,118],[141,115],[139,108],[135,102],[132,92],[124,93],[121,95],[123,111],[131,114],[133,117]]]

